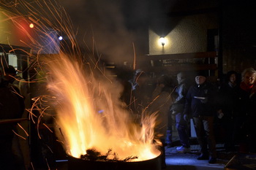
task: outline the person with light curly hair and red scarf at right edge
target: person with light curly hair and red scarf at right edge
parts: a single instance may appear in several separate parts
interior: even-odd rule
[[[239,115],[236,119],[236,132],[239,152],[256,152],[256,70],[244,69],[239,92]]]

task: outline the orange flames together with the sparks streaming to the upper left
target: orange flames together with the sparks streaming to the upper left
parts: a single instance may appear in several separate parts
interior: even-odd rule
[[[31,119],[35,118],[34,109],[40,113],[38,119],[47,115],[49,108],[54,109],[59,142],[74,158],[88,155],[91,148],[99,153],[108,152],[111,148],[115,154],[109,154],[108,159],[112,160],[117,160],[117,155],[118,160],[122,161],[159,158],[160,152],[153,143],[156,117],[143,115],[141,125],[133,123],[129,112],[123,109],[123,103],[118,100],[121,85],[110,79],[90,55],[81,53],[64,9],[48,1],[6,4],[10,14],[6,12],[4,15],[29,39],[26,45],[37,51],[36,55],[31,56],[34,57],[31,65],[38,64],[38,67],[34,66],[36,72],[46,75],[43,80],[47,83],[48,95],[34,98],[34,105],[29,110]],[[26,15],[23,11],[26,11]],[[34,21],[34,31],[26,31],[17,18]],[[63,39],[60,44],[54,31],[66,34],[68,42]],[[26,41],[20,39],[20,42]],[[48,45],[59,53],[42,55]],[[66,45],[69,45],[69,49]],[[103,159],[107,157],[103,156]]]

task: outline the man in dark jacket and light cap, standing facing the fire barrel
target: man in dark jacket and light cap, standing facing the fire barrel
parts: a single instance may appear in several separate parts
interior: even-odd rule
[[[189,88],[186,97],[184,120],[188,121],[189,115],[192,115],[197,141],[201,147],[201,155],[197,160],[208,160],[208,163],[216,163],[214,115],[217,112],[215,108],[217,88],[206,82],[206,77],[206,72],[198,72],[195,77],[196,84]]]

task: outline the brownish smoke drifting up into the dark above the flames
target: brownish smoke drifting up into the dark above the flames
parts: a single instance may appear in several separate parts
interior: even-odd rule
[[[97,51],[97,55],[102,55],[107,61],[132,63],[133,43],[135,50],[139,50],[135,42],[138,37],[126,26],[121,1],[63,0],[61,4],[78,28],[76,38],[80,45]]]

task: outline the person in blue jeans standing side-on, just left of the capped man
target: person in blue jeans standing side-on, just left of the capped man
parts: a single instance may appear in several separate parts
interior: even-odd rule
[[[177,147],[176,150],[177,152],[185,153],[190,152],[189,128],[187,121],[184,120],[184,107],[190,84],[187,79],[187,75],[184,72],[179,72],[177,74],[177,81],[178,86],[176,87],[173,95],[175,101],[173,102],[170,111],[172,115],[175,116],[176,128],[181,142],[181,147]]]

